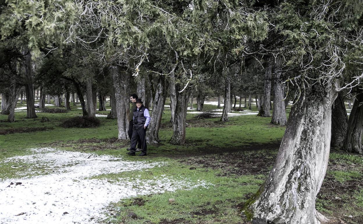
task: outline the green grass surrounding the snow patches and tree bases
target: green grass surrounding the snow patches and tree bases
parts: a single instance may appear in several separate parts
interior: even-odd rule
[[[168,99],[166,105],[168,105]],[[20,106],[26,105],[18,105],[18,107]],[[189,121],[191,125],[186,129],[187,144],[175,146],[168,143],[172,135],[172,129],[168,128],[168,126],[170,127],[171,114],[170,109],[165,107],[161,122],[164,128],[159,131],[161,144],[148,145],[148,156],[146,157],[127,157],[125,156],[125,149],[129,146],[128,141],[114,143],[77,142],[79,139],[110,139],[117,137],[116,120],[99,117],[101,126],[96,128],[66,129],[60,127],[60,123],[64,120],[82,114],[82,111],[77,107],[80,107],[80,105],[73,106],[71,103],[72,110],[69,113],[37,113],[38,118],[36,119],[25,118],[25,111],[16,112],[17,122],[1,122],[1,129],[52,127],[53,130],[0,135],[0,179],[47,174],[49,172],[47,164],[37,166],[36,164],[4,161],[11,156],[31,154],[32,151],[28,150],[29,148],[50,146],[69,151],[93,152],[99,155],[112,155],[115,157],[123,156],[123,160],[166,163],[165,166],[147,170],[104,174],[91,178],[107,179],[109,182],[139,179],[142,183],[152,184],[155,180],[166,176],[174,180],[187,179],[191,183],[198,183],[203,180],[208,185],[208,188],[179,189],[174,192],[138,195],[134,198],[123,199],[109,205],[107,208],[108,218],[104,221],[105,223],[110,221],[110,223],[140,224],[152,222],[156,224],[160,223],[161,220],[171,221],[176,219],[189,223],[244,223],[246,219],[241,214],[242,205],[257,192],[266,178],[266,173],[236,175],[234,171],[239,168],[235,167],[234,164],[226,165],[226,158],[242,154],[245,159],[260,155],[273,160],[276,157],[277,148],[270,148],[270,145],[280,142],[285,131],[285,127],[270,125],[270,118],[257,117],[256,115],[230,117],[229,122],[223,123],[219,121],[219,117],[195,121],[193,119],[196,114],[187,114],[187,120],[192,120]],[[196,108],[196,105],[193,105],[193,107]],[[216,108],[217,106],[212,105],[205,105],[204,107],[204,109],[208,110]],[[106,105],[106,109],[110,109],[109,104]],[[252,105],[252,111],[257,111],[255,105]],[[108,114],[109,111],[97,111],[97,113]],[[42,116],[48,117],[50,121],[41,123]],[[0,115],[0,120],[6,119],[6,115]],[[266,146],[266,149],[256,151],[253,146],[257,145]],[[231,148],[235,150],[243,149],[247,146],[251,149],[250,151],[237,151],[234,153],[225,151],[225,149]],[[208,150],[214,150],[215,153],[209,154]],[[213,162],[218,165],[215,168],[197,163],[197,160],[207,160],[213,156],[215,157]],[[186,163],[185,160],[194,164]],[[32,168],[32,172],[29,172],[29,167]],[[327,176],[332,179],[331,181],[344,184],[362,178],[363,159],[361,156],[333,150],[330,154],[329,167],[331,169],[328,169]],[[272,167],[266,167],[266,169],[270,168]],[[142,186],[135,186],[135,188],[142,188]],[[337,215],[339,208],[332,198],[339,196],[342,200],[347,201],[344,206],[341,206],[344,210],[339,212],[343,215],[349,215],[354,209],[355,214],[363,215],[362,194],[362,188],[346,195],[337,195],[331,192],[331,194],[326,194],[317,199],[317,209],[332,216]],[[175,199],[175,202],[169,203],[170,198]],[[351,200],[348,200],[349,198]],[[144,204],[137,205],[137,203],[134,203],[135,200],[142,200]],[[359,210],[359,208],[362,209]],[[130,217],[131,212],[135,213],[139,218]]]

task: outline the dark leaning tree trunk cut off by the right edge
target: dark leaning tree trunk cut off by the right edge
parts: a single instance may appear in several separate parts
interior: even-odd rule
[[[359,93],[354,101],[349,115],[347,135],[344,142],[344,150],[363,154],[363,93]]]

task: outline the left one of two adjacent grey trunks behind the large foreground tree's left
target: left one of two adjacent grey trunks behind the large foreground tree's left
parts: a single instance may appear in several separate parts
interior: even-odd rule
[[[262,96],[261,107],[260,110],[258,111],[257,116],[271,117],[270,114],[271,73],[272,73],[272,63],[269,63],[265,72],[264,95]]]

